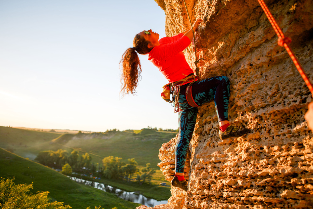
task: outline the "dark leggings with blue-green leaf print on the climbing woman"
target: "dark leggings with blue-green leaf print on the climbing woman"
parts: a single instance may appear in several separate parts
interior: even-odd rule
[[[184,172],[187,150],[196,124],[198,108],[191,107],[186,100],[186,88],[181,86],[178,112],[178,140],[175,146],[175,166],[177,173]],[[192,98],[197,105],[202,105],[214,98],[218,121],[228,120],[229,79],[226,76],[216,76],[192,84]]]

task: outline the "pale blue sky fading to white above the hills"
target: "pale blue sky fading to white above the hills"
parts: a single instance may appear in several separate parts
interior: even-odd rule
[[[140,56],[136,96],[118,63],[136,33],[165,36],[153,0],[0,0],[0,126],[105,131],[177,129],[162,73]]]

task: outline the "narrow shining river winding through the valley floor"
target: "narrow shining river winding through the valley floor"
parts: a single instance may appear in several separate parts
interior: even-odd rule
[[[117,189],[115,187],[111,187],[110,185],[106,185],[103,183],[87,181],[87,180],[76,178],[76,177],[69,177],[69,178],[74,180],[75,182],[85,184],[91,187],[95,187],[105,192],[114,193],[118,197],[121,197],[123,200],[139,203],[142,205],[146,205],[148,207],[154,207],[156,205],[167,204],[167,200],[156,201],[155,199],[147,198],[141,194],[137,194],[135,192],[126,192],[126,191]]]

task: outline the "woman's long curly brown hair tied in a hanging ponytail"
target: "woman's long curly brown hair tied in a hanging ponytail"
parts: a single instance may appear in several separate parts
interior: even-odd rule
[[[129,93],[134,95],[134,93],[136,93],[136,87],[141,78],[141,64],[137,52],[139,54],[149,53],[152,50],[152,48],[148,47],[148,44],[150,43],[151,42],[147,41],[143,36],[137,34],[133,41],[134,47],[126,49],[122,55],[119,66],[122,66],[121,93],[123,95]]]

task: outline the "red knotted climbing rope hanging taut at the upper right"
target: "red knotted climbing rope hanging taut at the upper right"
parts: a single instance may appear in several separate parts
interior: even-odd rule
[[[295,56],[294,52],[289,48],[289,43],[291,42],[291,39],[289,37],[285,37],[284,33],[280,30],[280,27],[277,25],[274,17],[272,16],[271,12],[269,12],[269,8],[267,8],[266,4],[264,3],[263,0],[258,0],[259,4],[261,5],[263,11],[266,14],[266,17],[269,19],[269,22],[273,26],[277,36],[278,36],[278,45],[281,47],[284,46],[286,51],[288,52],[289,56],[291,57],[292,61],[295,63],[295,67],[298,69],[300,72],[300,75],[302,76],[304,82],[308,86],[311,94],[313,95],[313,87],[312,84],[310,83],[307,75],[305,74],[299,60]]]

